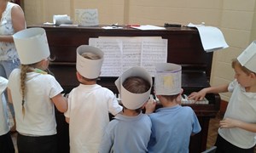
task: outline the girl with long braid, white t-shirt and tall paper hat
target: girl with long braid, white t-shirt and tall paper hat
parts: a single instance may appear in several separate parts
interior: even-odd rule
[[[61,85],[47,74],[49,46],[43,28],[14,35],[21,68],[9,76],[9,102],[14,104],[19,153],[56,152],[55,106],[67,111]]]

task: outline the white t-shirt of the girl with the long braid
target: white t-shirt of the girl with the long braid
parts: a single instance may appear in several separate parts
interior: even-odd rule
[[[20,69],[9,76],[15,107],[16,130],[25,135],[53,135],[56,133],[55,106],[51,98],[60,94],[61,85],[51,75],[37,72],[26,73],[25,116],[22,114]]]

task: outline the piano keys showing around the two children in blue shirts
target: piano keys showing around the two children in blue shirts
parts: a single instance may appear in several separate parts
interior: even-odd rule
[[[120,94],[115,94],[116,99],[118,100],[119,104],[121,104],[121,98],[120,98]],[[157,103],[159,103],[159,99],[157,99],[156,96],[154,96],[153,94],[149,95],[150,99],[155,99],[155,101]],[[182,104],[201,104],[201,105],[208,105],[209,101],[204,98],[202,100],[198,100],[195,102],[195,100],[189,100],[188,99],[188,95],[186,94],[182,94]]]

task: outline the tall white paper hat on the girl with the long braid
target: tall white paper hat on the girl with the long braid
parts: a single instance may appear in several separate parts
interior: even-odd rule
[[[49,57],[49,46],[43,28],[29,28],[13,35],[20,63],[29,65]]]

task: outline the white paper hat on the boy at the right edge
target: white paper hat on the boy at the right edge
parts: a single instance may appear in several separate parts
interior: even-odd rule
[[[238,57],[242,66],[256,73],[256,41],[253,41]]]

